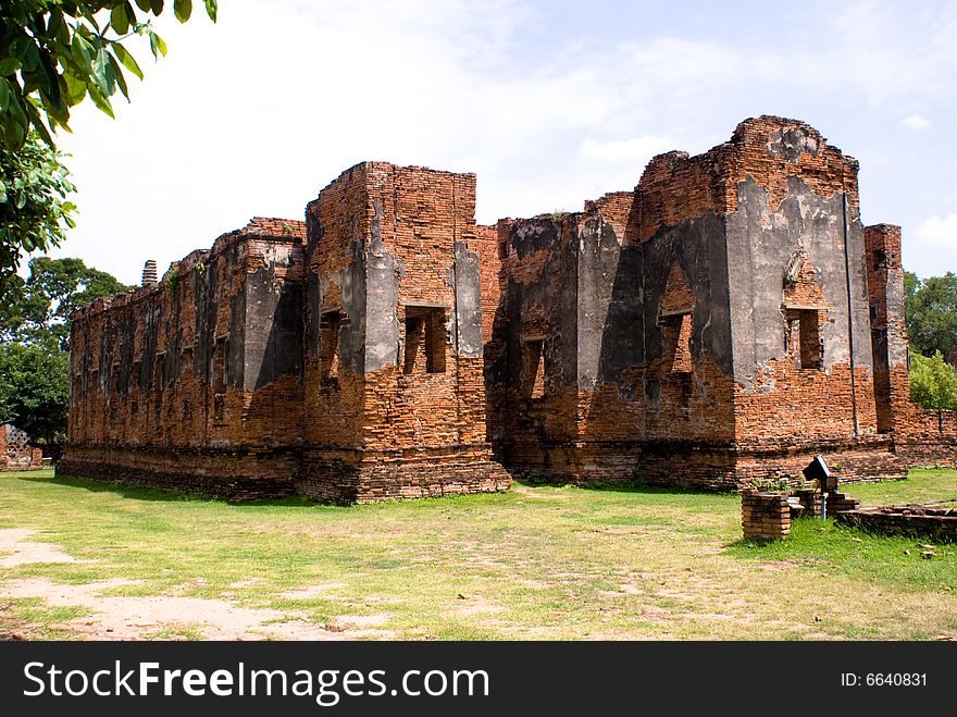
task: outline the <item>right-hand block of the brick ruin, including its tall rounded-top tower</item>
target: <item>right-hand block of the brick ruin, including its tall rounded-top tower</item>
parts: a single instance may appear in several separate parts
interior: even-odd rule
[[[759,118],[699,157],[656,158],[634,193],[500,224],[486,363],[507,465],[726,486],[797,480],[832,445],[854,478],[899,477],[890,444],[866,440],[877,409],[857,217],[857,162],[804,123]],[[525,366],[538,337],[540,388]]]

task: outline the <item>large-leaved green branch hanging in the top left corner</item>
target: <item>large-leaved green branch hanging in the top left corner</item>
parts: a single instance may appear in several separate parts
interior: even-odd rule
[[[153,57],[166,44],[151,18],[165,0],[3,0],[0,4],[0,140],[20,148],[34,128],[48,144],[58,127],[70,129],[70,109],[89,99],[113,116],[110,98],[128,99],[124,70],[142,79],[142,71],[124,45],[139,36]],[[216,0],[203,0],[216,20]],[[174,0],[181,23],[192,14],[192,0]]]

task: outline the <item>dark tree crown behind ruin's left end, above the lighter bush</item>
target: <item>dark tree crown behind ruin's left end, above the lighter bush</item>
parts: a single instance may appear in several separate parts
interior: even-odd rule
[[[100,297],[133,288],[112,274],[90,269],[80,259],[37,257],[29,267],[26,282],[16,277],[13,300],[0,305],[0,342],[67,350],[74,311]]]

